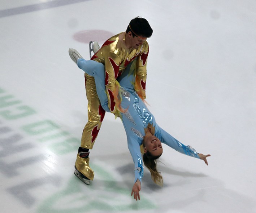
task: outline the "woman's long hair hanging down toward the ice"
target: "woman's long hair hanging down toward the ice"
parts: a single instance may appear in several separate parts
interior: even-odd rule
[[[143,141],[143,147],[144,141]],[[156,168],[156,159],[158,159],[161,155],[153,156],[151,152],[147,151],[143,154],[143,162],[144,165],[148,168],[149,172],[151,173],[152,180],[159,186],[163,185],[163,178],[160,174],[160,172],[157,171]]]

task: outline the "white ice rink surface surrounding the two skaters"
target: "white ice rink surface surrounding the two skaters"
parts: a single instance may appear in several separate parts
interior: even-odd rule
[[[209,165],[165,146],[164,186],[145,169],[131,197],[133,161],[120,119],[106,114],[90,154],[95,179],[74,162],[87,121],[83,71],[89,58],[144,17],[147,102],[158,124],[211,154]],[[255,213],[255,0],[0,0],[0,212]]]

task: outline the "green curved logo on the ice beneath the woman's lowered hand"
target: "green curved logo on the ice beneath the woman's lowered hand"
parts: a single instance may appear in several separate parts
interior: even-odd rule
[[[97,180],[87,186],[78,178],[71,178],[66,188],[45,200],[38,212],[121,212],[156,208],[156,205],[144,196],[141,196],[140,201],[135,201],[130,195],[130,188],[118,186],[120,182],[118,183],[103,167],[95,164],[91,164],[91,167],[97,174]]]

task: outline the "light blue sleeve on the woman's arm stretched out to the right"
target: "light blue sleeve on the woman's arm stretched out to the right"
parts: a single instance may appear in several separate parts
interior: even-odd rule
[[[194,150],[194,148],[192,148],[191,146],[185,146],[173,136],[171,136],[169,133],[165,132],[165,130],[163,130],[159,126],[157,126],[156,137],[159,138],[162,143],[175,149],[176,151],[200,159],[198,153]]]

